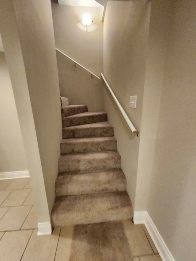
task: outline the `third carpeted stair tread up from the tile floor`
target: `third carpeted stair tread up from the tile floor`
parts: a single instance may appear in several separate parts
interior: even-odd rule
[[[59,161],[72,161],[72,160],[88,160],[93,158],[119,158],[118,151],[99,151],[99,152],[83,152],[83,153],[66,153],[61,154]]]

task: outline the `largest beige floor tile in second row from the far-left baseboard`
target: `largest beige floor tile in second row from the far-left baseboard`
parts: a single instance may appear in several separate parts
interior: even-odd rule
[[[4,200],[4,202],[1,204],[1,207],[22,205],[30,191],[30,188],[13,190],[10,193],[10,195],[6,198],[6,200]]]

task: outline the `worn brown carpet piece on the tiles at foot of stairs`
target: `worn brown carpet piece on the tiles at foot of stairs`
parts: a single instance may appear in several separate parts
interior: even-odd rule
[[[122,222],[74,227],[70,261],[133,261]]]

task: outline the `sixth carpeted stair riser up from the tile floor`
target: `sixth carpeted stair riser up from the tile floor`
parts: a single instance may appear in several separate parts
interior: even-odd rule
[[[74,118],[65,117],[62,119],[62,126],[64,128],[69,126],[83,125],[83,124],[102,122],[102,121],[107,121],[107,114],[86,115],[86,116],[78,116]]]

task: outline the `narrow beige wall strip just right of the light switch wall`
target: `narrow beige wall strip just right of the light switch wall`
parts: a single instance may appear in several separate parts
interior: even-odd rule
[[[135,211],[146,210],[148,203],[170,20],[171,1],[152,1],[145,69]]]

